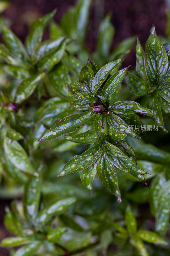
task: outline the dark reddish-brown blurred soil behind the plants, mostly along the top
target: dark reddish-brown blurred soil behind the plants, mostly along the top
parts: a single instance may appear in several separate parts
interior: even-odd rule
[[[57,8],[54,20],[59,22],[63,13],[75,2],[76,0],[11,0],[10,6],[2,15],[10,20],[12,31],[24,42],[33,20]],[[165,36],[166,8],[163,0],[93,0],[86,44],[92,51],[95,49],[99,22],[105,14],[111,12],[116,29],[113,47],[129,36],[138,36],[144,47],[152,24],[156,26],[158,35]],[[45,37],[48,37],[48,32]],[[135,59],[134,46],[124,61],[124,66],[134,67]],[[9,203],[9,200],[0,202],[0,240],[10,236],[3,224],[4,207]],[[0,248],[0,256],[8,255],[8,250]]]

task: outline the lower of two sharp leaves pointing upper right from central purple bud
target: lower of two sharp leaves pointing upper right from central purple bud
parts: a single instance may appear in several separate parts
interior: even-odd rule
[[[130,66],[128,66],[127,68],[119,70],[116,74],[114,74],[113,76],[111,76],[107,80],[107,82],[104,85],[103,90],[102,90],[102,95],[105,98],[109,99],[110,96],[116,91],[117,87],[119,86],[119,84],[124,79],[126,71],[128,70],[129,67]]]

